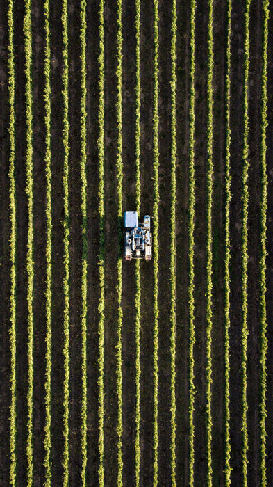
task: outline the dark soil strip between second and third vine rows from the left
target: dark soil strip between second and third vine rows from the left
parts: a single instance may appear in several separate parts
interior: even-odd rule
[[[44,8],[40,1],[32,3],[33,28],[33,216],[34,216],[34,355],[33,355],[33,458],[34,484],[44,481],[44,377],[46,351],[46,178],[44,170]]]

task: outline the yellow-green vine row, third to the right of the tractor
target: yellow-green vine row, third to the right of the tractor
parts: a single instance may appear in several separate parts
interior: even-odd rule
[[[190,141],[189,141],[189,209],[188,209],[188,235],[189,235],[189,285],[188,285],[188,307],[189,307],[189,485],[194,485],[194,462],[195,462],[195,9],[196,2],[191,0],[190,5]]]

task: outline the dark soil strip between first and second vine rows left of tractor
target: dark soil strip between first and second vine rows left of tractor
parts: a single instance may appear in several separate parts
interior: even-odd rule
[[[117,483],[117,5],[105,8],[105,479]]]

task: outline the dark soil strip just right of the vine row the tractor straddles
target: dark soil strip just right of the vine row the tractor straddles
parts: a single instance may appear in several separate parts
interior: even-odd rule
[[[140,1],[140,216],[153,216],[153,68],[154,68],[154,6],[152,2]],[[151,218],[153,225],[153,218]],[[153,227],[151,227],[151,232]],[[149,485],[153,470],[153,340],[154,279],[152,262],[140,262],[140,485]]]

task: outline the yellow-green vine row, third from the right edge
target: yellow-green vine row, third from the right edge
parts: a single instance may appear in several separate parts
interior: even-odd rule
[[[226,486],[231,485],[231,443],[230,443],[230,393],[229,393],[229,328],[230,319],[230,273],[231,260],[230,241],[230,205],[231,205],[231,0],[227,4],[227,36],[226,36],[226,160],[225,160],[225,209],[224,209],[224,230],[225,230],[225,253],[224,253],[224,474]]]

